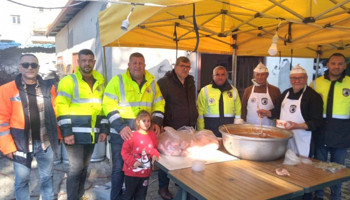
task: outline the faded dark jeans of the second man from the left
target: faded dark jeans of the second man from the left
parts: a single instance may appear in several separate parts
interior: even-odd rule
[[[76,200],[84,195],[87,167],[95,144],[65,145],[68,154],[69,173],[66,180],[67,199]]]

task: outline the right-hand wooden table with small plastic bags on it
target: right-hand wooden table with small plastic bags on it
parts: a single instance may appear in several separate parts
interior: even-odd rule
[[[311,159],[313,162],[319,162],[316,159]],[[257,169],[267,174],[279,177],[280,179],[291,182],[295,185],[304,188],[304,192],[311,192],[316,189],[321,189],[337,183],[350,180],[350,169],[344,168],[335,173],[331,173],[320,168],[314,167],[312,164],[298,164],[295,166],[282,164],[283,158],[273,161],[250,161],[236,160],[235,164],[250,170]],[[285,168],[290,176],[279,176],[275,173],[276,168]]]

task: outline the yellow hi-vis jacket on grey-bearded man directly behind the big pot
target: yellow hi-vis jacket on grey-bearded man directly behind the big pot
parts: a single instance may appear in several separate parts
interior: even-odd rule
[[[222,92],[224,117],[240,118],[241,105],[238,91],[232,85]],[[219,118],[219,99],[221,91],[208,84],[200,89],[197,99],[198,130],[204,129],[204,117]],[[208,125],[208,124],[207,124]]]

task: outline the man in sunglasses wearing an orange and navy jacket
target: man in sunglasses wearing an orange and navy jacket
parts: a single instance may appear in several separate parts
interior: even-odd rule
[[[61,139],[54,113],[54,79],[38,75],[38,59],[20,56],[20,73],[0,86],[0,151],[13,161],[16,199],[29,199],[30,167],[35,156],[42,199],[53,196],[53,156]]]

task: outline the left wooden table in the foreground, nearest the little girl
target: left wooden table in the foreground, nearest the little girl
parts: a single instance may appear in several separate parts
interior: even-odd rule
[[[168,171],[179,185],[182,199],[186,192],[198,199],[289,199],[303,194],[303,188],[253,167],[240,160],[205,165],[204,171],[191,168]]]

